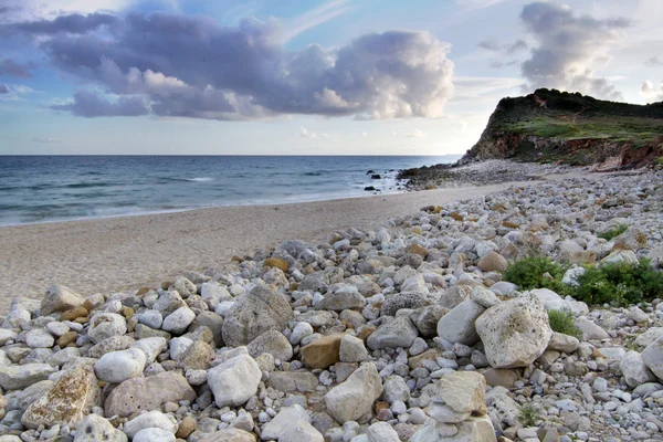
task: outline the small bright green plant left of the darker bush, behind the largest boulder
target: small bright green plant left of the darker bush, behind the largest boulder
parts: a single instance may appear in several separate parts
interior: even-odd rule
[[[565,291],[561,283],[565,272],[564,265],[548,257],[528,256],[509,265],[502,276],[504,281],[516,284],[520,290],[549,288],[560,293]]]

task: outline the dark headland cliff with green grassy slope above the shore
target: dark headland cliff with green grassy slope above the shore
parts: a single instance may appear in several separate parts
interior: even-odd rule
[[[663,102],[633,105],[537,90],[501,99],[478,143],[459,165],[513,159],[618,170],[662,157]]]

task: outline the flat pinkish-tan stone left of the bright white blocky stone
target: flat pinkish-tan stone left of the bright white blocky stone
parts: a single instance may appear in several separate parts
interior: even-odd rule
[[[194,401],[196,392],[187,379],[166,371],[147,378],[130,378],[115,387],[104,403],[105,415],[130,415],[159,409],[166,402]]]

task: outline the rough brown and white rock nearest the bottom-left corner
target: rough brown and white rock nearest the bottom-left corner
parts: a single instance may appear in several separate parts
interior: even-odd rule
[[[30,429],[40,425],[75,429],[101,402],[102,391],[94,372],[88,367],[76,366],[65,371],[45,394],[28,407],[21,423]]]

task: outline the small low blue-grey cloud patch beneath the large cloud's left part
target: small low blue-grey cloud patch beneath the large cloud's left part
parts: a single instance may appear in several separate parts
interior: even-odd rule
[[[119,97],[115,103],[107,101],[94,92],[74,94],[74,102],[53,105],[52,109],[67,110],[81,117],[135,117],[147,115],[149,109],[141,97]]]

